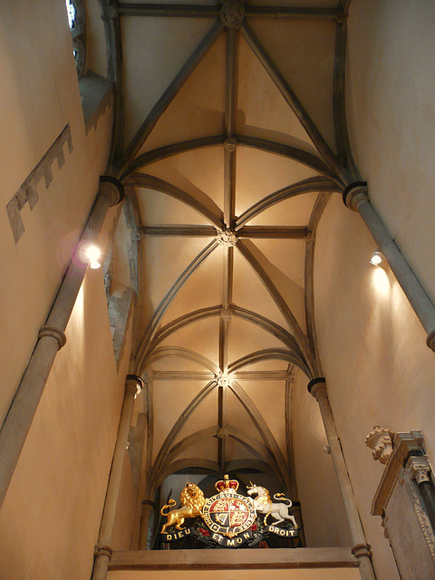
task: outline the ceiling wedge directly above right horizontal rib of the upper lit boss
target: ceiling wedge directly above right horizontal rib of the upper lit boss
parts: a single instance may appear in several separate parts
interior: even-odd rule
[[[285,199],[265,209],[248,221],[252,226],[307,226],[317,193],[304,193],[296,198]]]

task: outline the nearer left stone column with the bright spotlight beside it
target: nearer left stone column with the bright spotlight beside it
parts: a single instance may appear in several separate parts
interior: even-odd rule
[[[80,255],[82,244],[95,240],[102,229],[107,210],[120,203],[123,197],[123,188],[118,179],[110,176],[100,178],[100,189],[91,215],[75,249],[73,259],[63,278],[47,321],[39,332],[34,353],[0,430],[0,507],[5,500],[7,488],[14,475],[14,469],[34,420],[34,413],[43,395],[43,389],[56,354],[66,343],[64,331],[73,312],[88,267],[88,262],[83,261]]]

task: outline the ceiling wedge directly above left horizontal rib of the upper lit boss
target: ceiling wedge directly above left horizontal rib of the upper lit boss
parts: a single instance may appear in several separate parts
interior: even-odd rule
[[[137,188],[140,217],[144,226],[162,224],[205,225],[208,220],[186,203],[153,189]]]

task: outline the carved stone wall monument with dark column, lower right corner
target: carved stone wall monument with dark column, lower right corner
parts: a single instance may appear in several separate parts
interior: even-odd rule
[[[382,517],[402,580],[435,580],[435,488],[423,435],[396,433],[392,447],[390,435],[375,427],[366,439],[386,464],[372,515]]]

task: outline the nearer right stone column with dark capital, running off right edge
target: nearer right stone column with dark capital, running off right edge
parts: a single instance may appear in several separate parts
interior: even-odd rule
[[[391,239],[387,228],[383,225],[375,209],[369,201],[367,184],[356,182],[344,189],[344,204],[357,211],[383,256],[391,267],[392,272],[401,285],[401,289],[410,301],[415,314],[417,314],[428,337],[426,343],[432,351],[435,351],[435,305],[426,294],[417,276],[411,270],[411,266],[402,256],[401,250]]]

